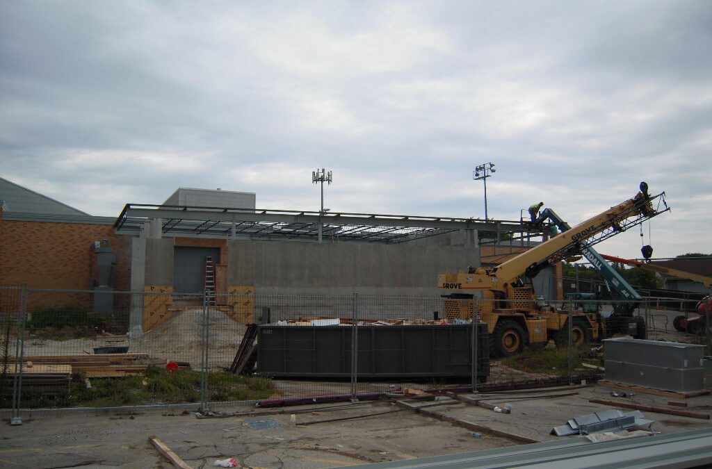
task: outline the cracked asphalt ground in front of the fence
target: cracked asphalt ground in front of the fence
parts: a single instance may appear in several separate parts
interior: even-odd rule
[[[214,467],[215,460],[235,458],[244,468],[338,468],[364,463],[404,460],[463,453],[523,444],[506,434],[548,441],[566,437],[550,435],[554,426],[570,418],[607,409],[590,399],[642,404],[659,409],[709,414],[708,394],[683,397],[630,391],[612,396],[605,386],[564,387],[545,392],[484,394],[478,399],[498,399],[492,404],[511,404],[511,413],[497,413],[473,404],[447,404],[436,400],[410,401],[429,406],[427,411],[491,428],[473,430],[402,409],[395,401],[370,403],[310,404],[256,409],[254,404],[222,406],[216,413],[270,412],[227,418],[198,418],[184,409],[125,409],[121,411],[33,411],[23,413],[22,424],[11,426],[9,413],[0,426],[1,468],[171,468],[149,442],[156,436],[191,468]],[[620,391],[623,392],[623,391]],[[570,396],[550,397],[557,394]],[[473,395],[470,395],[473,396]],[[505,399],[502,399],[505,398]],[[686,407],[669,404],[685,403]],[[441,404],[441,405],[433,405]],[[332,409],[332,410],[329,410]],[[382,413],[378,416],[366,416]],[[649,429],[677,433],[710,428],[709,419],[642,411],[653,420]],[[352,416],[362,418],[342,419]],[[299,425],[310,421],[342,419]],[[593,444],[593,443],[592,443]]]

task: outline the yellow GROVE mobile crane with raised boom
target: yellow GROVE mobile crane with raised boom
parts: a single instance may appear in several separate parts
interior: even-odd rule
[[[654,208],[656,204],[656,208]],[[661,209],[664,204],[664,209]],[[632,199],[614,206],[602,214],[579,223],[548,241],[516,255],[492,268],[470,268],[467,273],[438,275],[438,288],[454,290],[445,300],[445,310],[468,309],[475,306],[482,322],[486,322],[493,354],[508,356],[520,352],[526,344],[543,343],[567,330],[568,312],[538,305],[533,288],[525,285],[523,276],[533,278],[543,268],[564,258],[577,255],[586,246],[593,246],[617,233],[657,216],[669,208],[665,193],[648,194],[648,185],[640,183],[640,192]],[[473,300],[475,291],[483,292],[482,300]],[[572,313],[572,338],[580,344],[587,338],[598,339],[604,325],[598,313]],[[635,320],[634,327],[645,327]],[[566,329],[565,329],[566,328]]]

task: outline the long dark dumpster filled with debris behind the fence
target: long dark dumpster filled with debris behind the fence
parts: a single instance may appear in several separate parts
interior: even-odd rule
[[[478,381],[489,373],[486,325],[478,329]],[[258,326],[257,371],[268,376],[351,376],[352,326]],[[470,376],[472,325],[358,326],[362,378]]]

